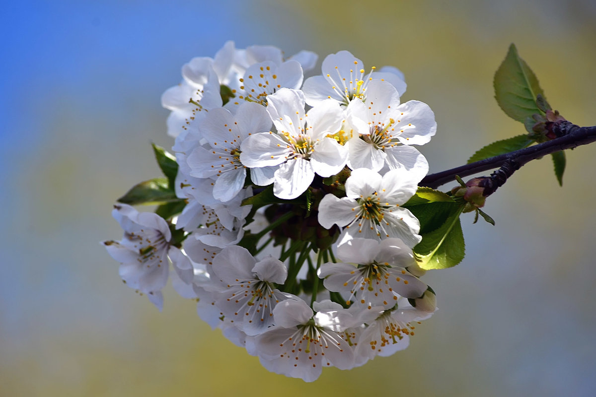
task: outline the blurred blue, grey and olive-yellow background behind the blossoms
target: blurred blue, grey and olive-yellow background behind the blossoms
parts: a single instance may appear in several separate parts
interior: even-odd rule
[[[550,158],[524,166],[488,200],[496,226],[462,218],[467,256],[424,277],[440,310],[406,351],[312,384],[268,373],[170,286],[157,311],[99,242],[122,236],[114,200],[159,176],[150,142],[173,143],[160,95],[228,39],[400,68],[403,99],[436,114],[436,172],[524,132],[493,98],[511,42],[555,109],[596,124],[595,18],[591,0],[6,2],[0,395],[594,395],[596,145],[567,152],[563,187]]]

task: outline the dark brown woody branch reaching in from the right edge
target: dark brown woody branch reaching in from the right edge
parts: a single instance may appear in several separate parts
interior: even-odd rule
[[[551,130],[557,137],[548,142],[538,143],[538,145],[530,146],[529,148],[520,149],[491,158],[485,158],[485,160],[461,165],[460,167],[451,168],[451,170],[427,175],[420,181],[420,183],[418,183],[418,186],[427,186],[432,187],[432,189],[437,189],[437,187],[455,180],[456,175],[467,177],[483,171],[492,170],[493,168],[503,167],[505,163],[508,164],[505,167],[510,168],[511,171],[507,176],[509,177],[514,171],[519,170],[522,165],[532,160],[536,160],[537,158],[541,158],[544,155],[596,142],[596,126],[579,127],[569,121],[560,121],[558,123],[553,123]],[[502,184],[505,183],[507,177],[502,180],[502,183],[499,186],[502,186]]]

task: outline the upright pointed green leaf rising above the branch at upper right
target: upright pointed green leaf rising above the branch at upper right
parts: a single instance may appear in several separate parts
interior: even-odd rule
[[[505,60],[496,70],[495,79],[495,98],[499,107],[514,120],[526,120],[526,117],[532,117],[533,114],[544,114],[541,107],[544,104],[537,103],[536,97],[542,96],[544,92],[538,85],[536,75],[530,67],[519,57],[514,44],[511,44]]]

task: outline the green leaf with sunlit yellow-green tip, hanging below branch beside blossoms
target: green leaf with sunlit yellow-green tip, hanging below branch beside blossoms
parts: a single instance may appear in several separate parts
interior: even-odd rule
[[[460,214],[464,205],[458,205],[438,229],[422,236],[414,247],[414,257],[424,270],[454,267],[465,256],[464,234]]]

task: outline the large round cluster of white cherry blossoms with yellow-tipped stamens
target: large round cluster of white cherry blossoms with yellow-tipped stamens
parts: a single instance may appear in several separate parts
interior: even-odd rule
[[[105,241],[123,281],[163,307],[172,280],[198,315],[275,373],[312,382],[408,346],[436,310],[405,204],[436,132],[403,74],[347,51],[289,58],[273,46],[193,58],[166,90],[175,192],[164,219],[114,206]],[[171,263],[171,266],[170,266]]]

